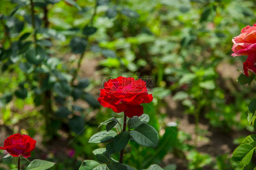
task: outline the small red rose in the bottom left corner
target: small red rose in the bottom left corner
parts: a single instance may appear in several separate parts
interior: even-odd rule
[[[33,140],[29,135],[14,134],[10,135],[4,143],[2,150],[6,150],[10,155],[18,157],[20,155],[25,158],[31,156],[31,151],[35,149],[36,140]]]

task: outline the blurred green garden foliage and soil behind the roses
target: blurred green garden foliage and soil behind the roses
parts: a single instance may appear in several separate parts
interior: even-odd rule
[[[231,170],[232,152],[255,132],[247,105],[256,92],[236,81],[246,56],[231,57],[231,40],[256,22],[256,1],[32,2],[0,0],[0,146],[13,133],[28,134],[37,140],[31,160],[77,170],[105,147],[87,143],[104,129],[99,123],[121,117],[97,102],[102,81],[154,76],[154,100],[143,106],[159,148],[130,142],[124,163]],[[1,160],[0,170],[14,167]]]

